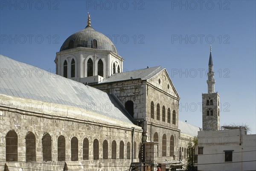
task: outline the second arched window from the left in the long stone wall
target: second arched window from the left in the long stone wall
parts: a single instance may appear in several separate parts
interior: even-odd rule
[[[26,135],[26,162],[35,162],[35,135],[32,132]]]

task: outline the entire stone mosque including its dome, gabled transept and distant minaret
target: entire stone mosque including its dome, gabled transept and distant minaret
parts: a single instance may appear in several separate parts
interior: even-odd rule
[[[54,62],[56,75],[0,56],[0,170],[167,171],[186,164],[200,129],[179,121],[180,96],[165,68],[123,72],[124,58],[94,30],[90,14]],[[219,127],[213,76],[209,70],[204,130]]]

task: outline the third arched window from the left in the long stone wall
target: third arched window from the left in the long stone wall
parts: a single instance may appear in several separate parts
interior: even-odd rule
[[[51,161],[52,160],[52,140],[51,136],[46,133],[43,136],[43,161]]]

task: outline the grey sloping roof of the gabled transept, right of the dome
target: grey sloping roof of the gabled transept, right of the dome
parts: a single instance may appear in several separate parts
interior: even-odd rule
[[[138,79],[138,78],[142,80],[148,80],[151,77],[155,76],[157,73],[159,73],[161,70],[163,70],[163,68],[161,68],[161,66],[157,66],[157,67],[127,71],[122,73],[116,73],[116,74],[113,74],[113,76],[110,76],[109,78],[106,78],[103,81],[101,81],[100,84],[115,82],[115,81]]]

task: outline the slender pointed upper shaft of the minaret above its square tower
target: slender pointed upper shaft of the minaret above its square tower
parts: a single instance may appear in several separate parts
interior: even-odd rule
[[[210,45],[210,56],[209,56],[209,63],[208,63],[208,93],[214,93],[214,84],[215,84],[215,79],[214,79],[214,72],[213,72],[213,63],[212,63],[212,45]]]

